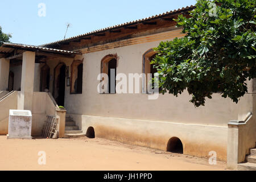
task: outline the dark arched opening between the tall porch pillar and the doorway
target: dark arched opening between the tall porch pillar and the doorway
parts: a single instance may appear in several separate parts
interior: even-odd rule
[[[49,92],[50,68],[45,64],[40,73],[40,92]]]

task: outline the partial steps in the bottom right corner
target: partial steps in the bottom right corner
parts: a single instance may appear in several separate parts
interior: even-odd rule
[[[238,164],[240,171],[256,171],[256,148],[251,149],[251,155],[247,156],[247,163]]]

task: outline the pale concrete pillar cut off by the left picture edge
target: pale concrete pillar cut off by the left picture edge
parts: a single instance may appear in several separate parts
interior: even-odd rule
[[[10,60],[5,58],[0,59],[0,90],[5,91],[8,88],[9,82]]]

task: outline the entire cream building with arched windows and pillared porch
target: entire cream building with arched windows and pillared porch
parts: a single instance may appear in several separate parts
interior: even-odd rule
[[[148,79],[129,77],[131,73],[155,73],[150,64],[156,53],[153,48],[162,41],[183,37],[172,19],[179,14],[188,16],[193,8],[39,47],[3,44],[0,90],[17,92],[11,95],[13,98],[7,107],[3,104],[5,100],[0,100],[0,108],[32,110],[32,134],[40,135],[46,115],[54,114],[51,108],[55,110],[55,105],[48,104],[51,101],[46,93],[49,92],[58,106],[65,107],[66,117],[72,118],[78,130],[88,136],[203,158],[216,154],[217,159],[228,161],[231,168],[236,167],[245,160],[250,148],[255,147],[254,94],[246,94],[235,104],[214,93],[204,107],[196,108],[189,102],[191,96],[187,92],[179,97],[164,94],[151,100],[154,93],[147,92]],[[34,58],[26,61],[26,53],[28,56],[34,53]],[[132,78],[134,88],[139,85],[139,93],[128,83],[124,84],[127,88],[122,86],[122,89],[133,90],[133,93],[116,90],[99,93],[102,81],[99,75],[110,76],[112,71],[115,77],[124,74],[127,82]],[[114,86],[121,80],[117,79]],[[249,92],[254,93],[255,81],[248,81],[248,87]],[[111,86],[108,88],[110,91]],[[2,115],[0,111],[0,134],[8,132],[4,110]]]

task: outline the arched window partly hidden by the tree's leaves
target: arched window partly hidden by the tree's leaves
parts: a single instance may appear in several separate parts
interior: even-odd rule
[[[151,79],[154,78],[154,74],[157,73],[157,69],[154,68],[154,64],[150,64],[152,59],[156,56],[156,52],[153,49],[149,49],[143,55],[142,61],[142,73],[146,75],[146,78],[142,78],[142,93],[154,93],[154,85],[150,85]]]

